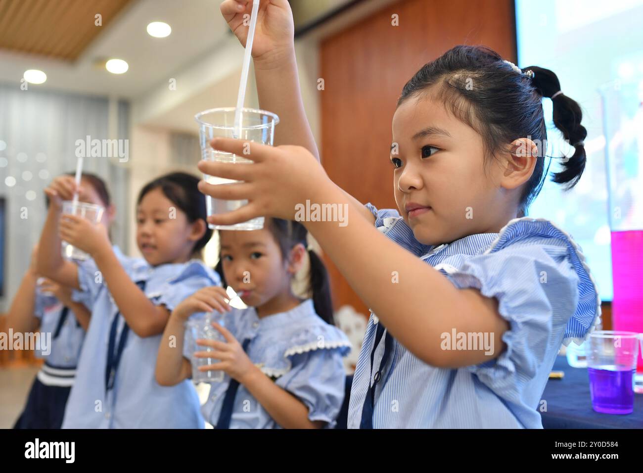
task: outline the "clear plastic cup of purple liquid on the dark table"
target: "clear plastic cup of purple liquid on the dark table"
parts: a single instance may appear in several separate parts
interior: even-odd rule
[[[605,414],[631,413],[634,410],[638,334],[614,330],[594,331],[586,343],[592,408]]]

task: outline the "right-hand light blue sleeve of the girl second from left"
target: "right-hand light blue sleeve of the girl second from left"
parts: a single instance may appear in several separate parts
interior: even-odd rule
[[[191,261],[179,275],[162,284],[154,294],[149,295],[154,304],[174,308],[186,297],[206,286],[221,286],[221,279],[201,261]]]

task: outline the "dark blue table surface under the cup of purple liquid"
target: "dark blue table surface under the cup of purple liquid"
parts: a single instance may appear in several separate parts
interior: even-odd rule
[[[541,412],[545,429],[643,429],[643,394],[634,394],[631,414],[601,414],[592,409],[587,368],[572,368],[565,357],[557,357],[554,371],[565,372],[561,380],[549,380]]]

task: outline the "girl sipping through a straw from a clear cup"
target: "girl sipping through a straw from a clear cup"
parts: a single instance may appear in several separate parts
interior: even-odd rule
[[[248,306],[233,309],[221,287],[204,288],[181,302],[159,347],[156,379],[174,385],[191,376],[190,359],[214,358],[202,371],[221,370],[210,383],[204,417],[217,429],[333,427],[345,393],[342,357],[346,336],[332,325],[329,281],[318,255],[308,250],[312,298],[291,289],[305,262],[307,231],[300,223],[266,219],[262,230],[219,232],[223,279]],[[225,284],[224,284],[225,285]],[[225,341],[184,335],[188,317],[218,311]],[[195,341],[197,344],[195,344]],[[206,348],[213,352],[205,352]]]

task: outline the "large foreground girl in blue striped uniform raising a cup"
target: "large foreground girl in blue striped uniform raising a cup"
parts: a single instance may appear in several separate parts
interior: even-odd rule
[[[244,30],[235,27],[245,4],[222,5],[233,31]],[[362,206],[328,178],[302,129],[291,36],[276,28],[291,19],[287,3],[262,6],[271,14],[260,15],[266,24],[253,47],[261,104],[292,119],[275,143],[302,146],[213,140],[255,163],[199,163],[244,181],[202,181],[203,192],[249,199],[210,223],[293,218],[307,200],[346,206],[347,225],[305,226],[372,312],[349,427],[541,428],[540,396],[561,343],[586,337],[600,315],[581,248],[550,221],[525,217],[548,174],[541,101],[553,101],[554,124],[574,150],[554,174],[568,187],[586,157],[578,104],[550,70],[457,46],[422,67],[399,98],[390,154],[397,209]]]

